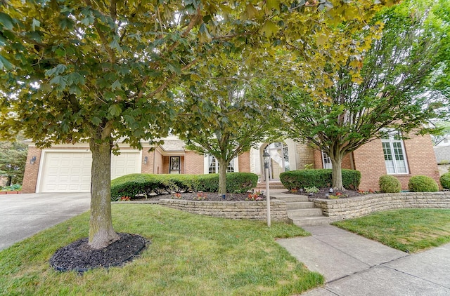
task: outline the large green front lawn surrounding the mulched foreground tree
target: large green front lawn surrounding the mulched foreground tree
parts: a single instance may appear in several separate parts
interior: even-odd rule
[[[323,277],[275,238],[307,236],[299,227],[226,220],[149,205],[113,205],[117,232],[151,244],[124,267],[79,276],[49,265],[58,248],[87,236],[89,213],[0,252],[0,295],[293,295]]]

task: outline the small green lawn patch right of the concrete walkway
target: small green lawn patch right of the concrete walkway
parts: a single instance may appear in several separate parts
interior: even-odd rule
[[[402,251],[417,252],[450,242],[450,210],[402,209],[333,223]]]

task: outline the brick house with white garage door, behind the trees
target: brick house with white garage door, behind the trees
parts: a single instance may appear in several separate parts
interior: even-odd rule
[[[112,156],[111,177],[130,173],[154,174],[207,174],[218,173],[218,163],[213,156],[200,155],[186,150],[184,142],[175,136],[165,138],[165,143],[150,151],[143,144],[139,151],[119,143],[120,155]],[[264,175],[264,150],[269,152],[269,180],[279,180],[286,170],[330,168],[329,157],[306,143],[285,139],[282,142],[259,143],[256,149],[245,152],[229,164],[229,171],[251,172]],[[428,175],[439,184],[439,172],[429,135],[411,135],[408,140],[386,137],[364,144],[348,154],[342,168],[361,172],[361,190],[378,190],[381,175],[397,177],[402,189],[408,188],[413,175]],[[29,144],[23,192],[89,192],[91,153],[89,144],[59,144],[49,149],[38,149]]]

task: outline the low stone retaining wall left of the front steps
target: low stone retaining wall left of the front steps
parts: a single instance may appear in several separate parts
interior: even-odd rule
[[[186,201],[160,199],[159,204],[188,213],[222,217],[227,219],[266,220],[266,201]],[[288,222],[288,210],[284,201],[270,202],[271,220]]]

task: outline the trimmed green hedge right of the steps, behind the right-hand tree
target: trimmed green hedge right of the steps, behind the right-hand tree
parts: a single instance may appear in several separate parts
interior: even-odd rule
[[[326,188],[332,184],[333,170],[329,168],[311,170],[291,170],[280,174],[281,183],[287,189],[301,189],[305,187]],[[359,170],[342,168],[342,185],[345,189],[356,190],[361,182]]]

